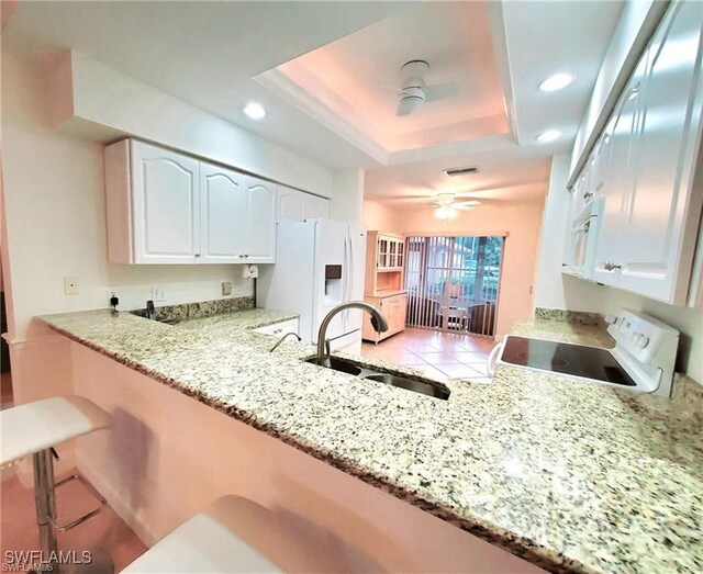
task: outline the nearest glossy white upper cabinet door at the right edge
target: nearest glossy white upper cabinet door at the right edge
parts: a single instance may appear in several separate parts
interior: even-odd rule
[[[620,286],[683,304],[703,193],[695,190],[701,131],[703,7],[671,5],[647,54],[634,138],[634,185],[622,220]]]

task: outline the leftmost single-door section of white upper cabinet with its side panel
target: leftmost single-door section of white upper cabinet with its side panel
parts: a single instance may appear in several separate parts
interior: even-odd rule
[[[110,261],[197,262],[198,171],[198,160],[141,142],[105,148]]]

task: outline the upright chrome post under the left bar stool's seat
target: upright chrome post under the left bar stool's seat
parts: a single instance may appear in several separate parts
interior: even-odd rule
[[[52,522],[56,519],[56,502],[54,499],[54,461],[51,449],[33,454],[34,462],[34,503],[36,521],[40,527],[40,545],[42,562],[53,563],[51,572],[58,572],[56,556],[58,545]]]

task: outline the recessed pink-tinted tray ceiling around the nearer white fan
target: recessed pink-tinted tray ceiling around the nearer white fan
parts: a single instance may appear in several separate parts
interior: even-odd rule
[[[399,117],[401,68],[414,59],[447,97]],[[428,2],[276,70],[387,154],[509,132],[484,2]]]

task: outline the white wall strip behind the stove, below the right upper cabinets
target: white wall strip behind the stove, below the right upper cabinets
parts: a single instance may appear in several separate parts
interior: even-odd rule
[[[703,382],[703,308],[674,307],[561,273],[569,214],[568,172],[568,155],[555,156],[543,218],[535,305],[602,314],[623,307],[648,313],[681,331],[677,370]]]

